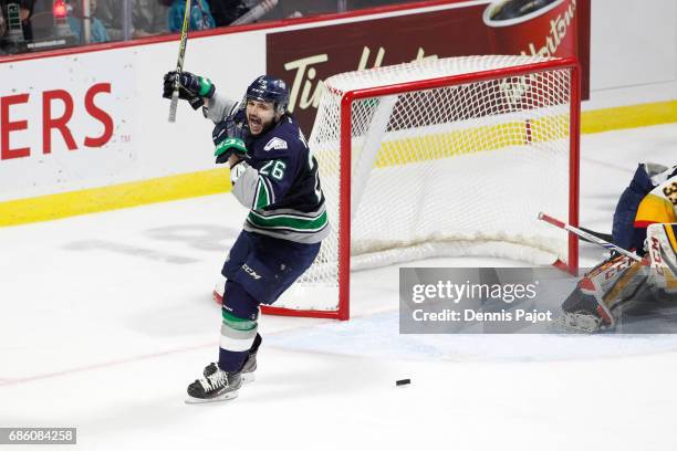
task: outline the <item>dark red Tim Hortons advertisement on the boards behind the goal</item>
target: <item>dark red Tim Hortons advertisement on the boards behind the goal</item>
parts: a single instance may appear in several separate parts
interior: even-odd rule
[[[589,96],[590,0],[499,0],[270,33],[267,71],[291,86],[290,109],[310,133],[319,84],[337,73],[426,57],[577,56]]]

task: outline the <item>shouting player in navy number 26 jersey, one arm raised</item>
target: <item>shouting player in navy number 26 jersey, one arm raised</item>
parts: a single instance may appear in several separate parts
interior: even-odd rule
[[[165,75],[169,98],[176,72]],[[179,97],[204,114],[216,161],[230,167],[232,193],[250,209],[226,259],[219,359],[188,386],[187,402],[232,399],[256,369],[259,305],[272,304],[312,264],[330,231],[317,162],[287,112],[282,80],[260,76],[239,103],[208,78],[181,72]]]

